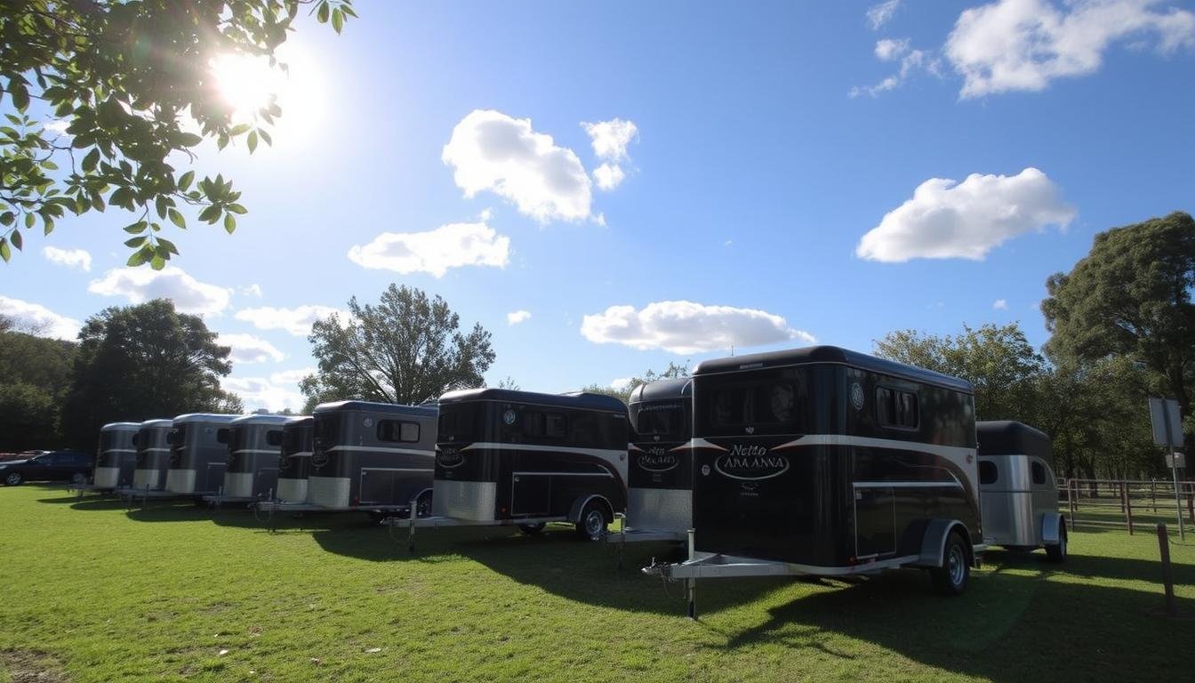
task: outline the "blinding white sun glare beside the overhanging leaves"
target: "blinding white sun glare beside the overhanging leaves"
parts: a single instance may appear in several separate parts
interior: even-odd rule
[[[289,49],[287,49],[289,48]],[[266,57],[223,55],[212,61],[220,96],[233,108],[235,122],[252,122],[258,110],[268,105],[270,96],[277,98],[282,116],[270,127],[282,138],[301,133],[319,123],[326,100],[319,71],[306,55],[287,44],[281,48],[278,61],[288,66],[270,67]],[[280,140],[278,135],[274,136]]]

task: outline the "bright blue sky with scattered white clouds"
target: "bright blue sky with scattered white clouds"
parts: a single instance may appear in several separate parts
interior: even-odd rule
[[[192,220],[155,276],[123,269],[127,217],[63,220],[0,310],[71,334],[171,294],[234,342],[246,407],[298,408],[305,319],[398,282],[494,333],[491,383],[565,391],[731,343],[1040,344],[1095,233],[1193,208],[1189,2],[355,7],[288,43],[272,148],[201,150],[235,234]]]

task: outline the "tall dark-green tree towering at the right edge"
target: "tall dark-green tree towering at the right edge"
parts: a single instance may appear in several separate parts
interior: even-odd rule
[[[1047,280],[1042,301],[1052,355],[1096,361],[1123,354],[1144,361],[1190,415],[1195,373],[1195,220],[1165,218],[1096,236],[1070,273]]]

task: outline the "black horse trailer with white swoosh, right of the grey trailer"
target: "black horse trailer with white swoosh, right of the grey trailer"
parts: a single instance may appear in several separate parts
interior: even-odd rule
[[[431,516],[407,528],[566,522],[600,539],[626,510],[626,405],[598,394],[470,389],[440,397]]]

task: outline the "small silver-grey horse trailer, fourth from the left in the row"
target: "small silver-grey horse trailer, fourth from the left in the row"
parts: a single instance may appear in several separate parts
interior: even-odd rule
[[[272,500],[278,486],[278,457],[282,455],[282,426],[286,415],[245,415],[228,422],[228,445],[223,486],[217,495],[203,500],[220,506],[226,502]]]

